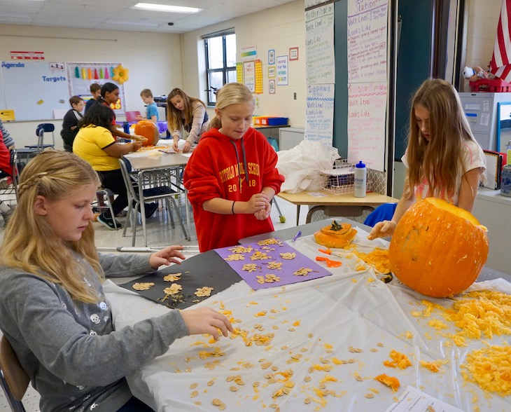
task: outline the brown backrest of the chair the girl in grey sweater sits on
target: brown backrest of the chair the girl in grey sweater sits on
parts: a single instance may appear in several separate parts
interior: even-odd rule
[[[16,400],[21,401],[25,392],[27,392],[30,378],[20,365],[13,347],[5,336],[2,336],[0,340],[0,370],[7,382],[10,393],[13,394]]]

